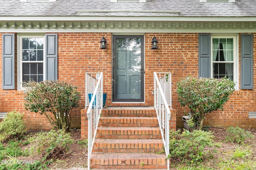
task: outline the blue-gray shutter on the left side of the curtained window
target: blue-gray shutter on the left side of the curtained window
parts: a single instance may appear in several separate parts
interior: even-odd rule
[[[211,77],[211,34],[198,35],[198,76]]]

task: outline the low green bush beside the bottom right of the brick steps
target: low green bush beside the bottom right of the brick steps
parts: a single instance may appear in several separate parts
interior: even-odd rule
[[[201,130],[170,131],[170,154],[168,158],[179,158],[181,160],[190,160],[191,162],[198,162],[204,159],[207,151],[204,150],[206,146],[218,147],[219,144],[214,143],[212,132],[205,132]]]

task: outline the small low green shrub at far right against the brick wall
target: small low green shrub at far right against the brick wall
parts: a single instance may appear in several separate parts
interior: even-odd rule
[[[228,135],[226,136],[226,141],[236,142],[237,144],[244,143],[246,139],[254,138],[254,135],[250,131],[245,131],[240,127],[228,127],[226,130]]]

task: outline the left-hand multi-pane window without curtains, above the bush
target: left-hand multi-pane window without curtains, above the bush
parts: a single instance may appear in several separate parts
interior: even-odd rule
[[[44,36],[20,36],[19,43],[20,88],[22,88],[21,82],[28,82],[30,79],[36,82],[45,80]]]

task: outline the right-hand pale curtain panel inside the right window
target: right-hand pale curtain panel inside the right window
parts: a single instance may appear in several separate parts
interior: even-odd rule
[[[222,43],[223,50],[224,50],[224,59],[225,61],[233,61],[233,42],[232,41],[226,41],[226,43]],[[226,63],[226,70],[228,74],[228,78],[230,80],[233,80],[233,64],[232,63]]]

